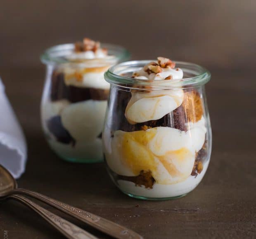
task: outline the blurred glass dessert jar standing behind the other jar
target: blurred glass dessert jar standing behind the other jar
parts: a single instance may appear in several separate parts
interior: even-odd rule
[[[73,57],[74,44],[51,47],[41,56],[46,65],[43,131],[52,150],[67,161],[103,161],[102,129],[110,87],[104,72],[127,60],[129,53],[116,45],[102,47],[108,56],[98,59]]]

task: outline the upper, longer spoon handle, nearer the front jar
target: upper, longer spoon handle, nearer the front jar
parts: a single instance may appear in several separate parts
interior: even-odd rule
[[[51,206],[54,206],[55,208],[69,214],[70,216],[73,216],[74,218],[77,218],[78,220],[83,221],[84,223],[87,223],[88,225],[112,237],[115,237],[118,239],[143,239],[142,236],[140,236],[136,232],[126,227],[123,227],[117,223],[111,222],[110,220],[101,218],[100,216],[89,213],[82,209],[70,206],[63,202],[59,202],[50,197],[46,197],[45,195],[40,194],[38,192],[33,192],[26,189],[15,189],[12,192],[15,194],[21,193],[21,194],[26,194],[28,196],[34,197],[42,202],[45,202]]]

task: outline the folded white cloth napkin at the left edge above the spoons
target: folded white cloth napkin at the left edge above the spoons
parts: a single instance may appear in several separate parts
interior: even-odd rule
[[[0,78],[0,164],[19,178],[25,171],[26,140]]]

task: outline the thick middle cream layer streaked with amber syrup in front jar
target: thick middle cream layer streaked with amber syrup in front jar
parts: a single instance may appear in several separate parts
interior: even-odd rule
[[[170,127],[133,132],[118,130],[110,141],[105,140],[110,142],[105,145],[107,164],[119,175],[137,176],[141,170],[150,170],[156,183],[178,183],[190,176],[205,134],[204,117],[191,124],[189,131]]]

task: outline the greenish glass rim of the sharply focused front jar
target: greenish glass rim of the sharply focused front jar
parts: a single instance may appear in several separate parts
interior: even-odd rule
[[[132,77],[126,77],[122,74],[134,72],[143,68],[143,66],[156,60],[126,61],[109,68],[105,74],[105,80],[111,84],[116,84],[125,88],[140,89],[140,86],[149,86],[151,89],[184,89],[195,86],[201,86],[209,82],[211,73],[206,68],[190,62],[173,61],[176,67],[181,68],[183,73],[190,73],[191,77],[185,77],[179,80],[142,80]]]

